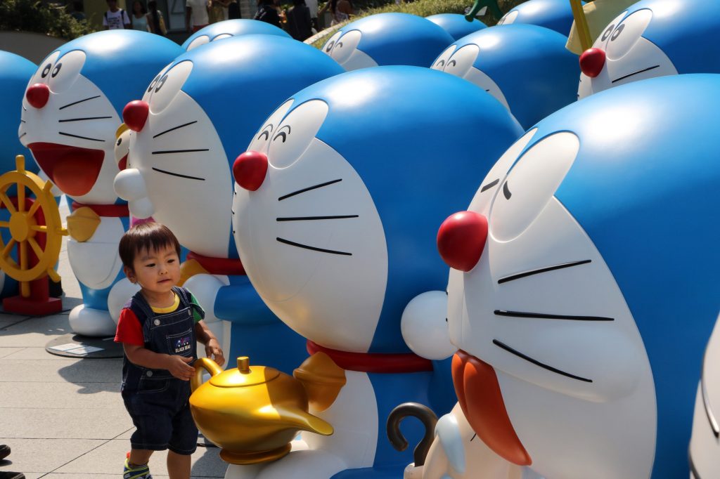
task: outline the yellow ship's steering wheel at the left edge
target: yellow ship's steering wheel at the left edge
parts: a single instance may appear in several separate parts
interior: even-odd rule
[[[17,170],[0,175],[0,206],[10,212],[10,220],[0,222],[0,232],[7,228],[12,237],[5,243],[0,236],[0,269],[20,283],[20,296],[27,298],[30,281],[45,275],[50,275],[53,281],[60,280],[55,263],[60,257],[63,235],[68,231],[63,228],[58,204],[50,192],[53,183],[43,183],[35,173],[26,171],[23,155],[17,155],[15,165]],[[8,188],[13,185],[17,186],[17,203],[7,196]],[[35,196],[30,208],[26,207],[26,188]],[[38,217],[44,217],[45,224],[38,224]],[[16,246],[17,262],[10,255]],[[30,250],[37,261],[32,259]]]

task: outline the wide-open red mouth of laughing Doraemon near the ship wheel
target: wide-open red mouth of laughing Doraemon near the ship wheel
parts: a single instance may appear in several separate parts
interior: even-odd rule
[[[50,181],[70,196],[89,193],[97,181],[105,158],[103,150],[58,145],[57,143],[31,143],[27,145]]]

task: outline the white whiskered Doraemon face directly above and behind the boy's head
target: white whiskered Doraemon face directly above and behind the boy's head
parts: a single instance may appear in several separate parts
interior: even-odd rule
[[[133,216],[152,215],[194,252],[227,257],[232,175],[210,118],[181,90],[192,68],[190,61],[164,68],[148,86],[148,119],[130,137],[115,187]]]

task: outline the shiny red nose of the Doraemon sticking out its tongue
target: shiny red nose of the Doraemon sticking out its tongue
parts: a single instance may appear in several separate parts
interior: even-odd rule
[[[487,218],[474,211],[449,216],[438,230],[438,251],[450,268],[466,273],[477,265],[487,239]]]

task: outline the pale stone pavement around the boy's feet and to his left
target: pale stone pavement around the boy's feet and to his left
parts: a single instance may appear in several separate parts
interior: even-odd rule
[[[120,478],[135,430],[120,398],[122,360],[45,351],[52,339],[71,332],[68,312],[81,304],[64,242],[58,273],[66,311],[40,318],[0,312],[0,444],[12,448],[0,472],[28,479]],[[150,460],[153,478],[168,478],[165,457],[156,452]],[[223,478],[226,467],[217,448],[198,447],[192,478]]]

